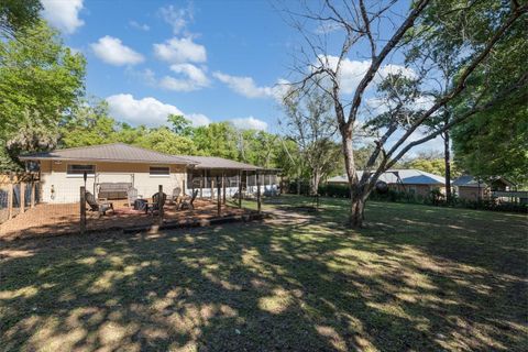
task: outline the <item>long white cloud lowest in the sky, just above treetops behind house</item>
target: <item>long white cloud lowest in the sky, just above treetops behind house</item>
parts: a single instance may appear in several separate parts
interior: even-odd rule
[[[132,95],[114,95],[107,98],[110,113],[120,121],[131,124],[145,124],[157,127],[166,124],[167,116],[170,113],[183,114],[193,125],[210,123],[208,117],[201,113],[186,114],[177,107],[164,103],[153,97],[135,99]]]

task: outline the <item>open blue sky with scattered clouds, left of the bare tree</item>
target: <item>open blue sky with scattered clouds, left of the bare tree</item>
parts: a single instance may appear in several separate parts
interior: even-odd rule
[[[301,41],[274,8],[280,2],[42,2],[43,16],[65,44],[86,56],[87,92],[107,99],[117,119],[154,127],[168,113],[183,113],[195,125],[228,120],[280,132],[277,96],[284,86],[277,82],[289,79]],[[403,1],[395,12],[406,9]],[[343,67],[345,94],[366,59],[361,46],[351,53]]]

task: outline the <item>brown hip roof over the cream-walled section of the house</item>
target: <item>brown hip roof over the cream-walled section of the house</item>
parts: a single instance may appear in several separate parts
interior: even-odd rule
[[[52,152],[21,155],[22,161],[56,160],[56,161],[90,161],[117,163],[150,163],[193,165],[193,161],[184,157],[164,154],[132,146],[123,143],[79,146]]]

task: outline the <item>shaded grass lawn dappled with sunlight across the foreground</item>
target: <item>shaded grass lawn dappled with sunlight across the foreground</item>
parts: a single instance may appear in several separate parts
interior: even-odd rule
[[[0,350],[526,350],[526,216],[370,202],[352,231],[345,200],[282,200],[295,217],[0,243]]]

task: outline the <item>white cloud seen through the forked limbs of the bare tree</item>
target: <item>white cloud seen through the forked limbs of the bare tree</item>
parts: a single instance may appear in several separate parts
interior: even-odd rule
[[[332,55],[327,55],[327,56],[319,56],[319,61],[316,66],[320,66],[321,63],[330,67],[331,69],[336,69],[337,65],[339,62],[338,56],[332,56]],[[352,61],[349,58],[344,58],[341,62],[341,75],[340,75],[340,81],[341,81],[341,91],[343,94],[353,94],[355,91],[355,88],[360,84],[360,81],[363,79],[363,76],[365,75],[366,70],[371,66],[370,61]],[[416,77],[416,74],[413,69],[407,68],[405,66],[400,65],[394,65],[394,64],[387,64],[382,66],[376,76],[374,77],[374,82],[380,81],[384,77],[386,77],[388,74],[396,74],[396,73],[402,73],[404,76],[414,78]]]

